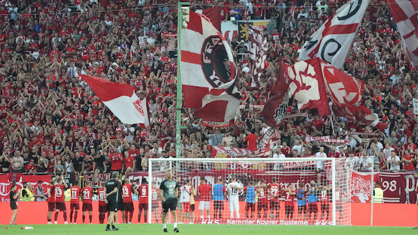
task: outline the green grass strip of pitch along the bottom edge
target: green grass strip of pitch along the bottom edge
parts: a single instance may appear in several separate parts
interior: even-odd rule
[[[174,234],[173,225],[168,224],[168,233],[162,225],[117,225],[119,231],[105,232],[105,225],[28,225],[33,229],[20,229],[24,225],[1,225],[0,234]],[[8,227],[8,229],[5,229]],[[354,226],[297,226],[297,225],[178,225],[179,234],[418,234],[412,227],[354,227]]]

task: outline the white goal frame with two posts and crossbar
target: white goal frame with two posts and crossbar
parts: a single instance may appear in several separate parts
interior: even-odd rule
[[[336,159],[333,157],[297,157],[297,158],[149,158],[148,159],[148,223],[152,223],[152,190],[154,162],[308,162],[331,161],[332,225],[336,225]],[[172,164],[170,164],[170,169]],[[159,195],[157,195],[159,197]]]

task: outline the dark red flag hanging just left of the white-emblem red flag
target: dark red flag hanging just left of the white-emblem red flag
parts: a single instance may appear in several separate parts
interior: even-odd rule
[[[288,110],[289,83],[286,81],[286,73],[289,65],[280,60],[279,71],[275,84],[270,87],[270,98],[265,103],[261,116],[268,126],[276,127],[283,121]]]

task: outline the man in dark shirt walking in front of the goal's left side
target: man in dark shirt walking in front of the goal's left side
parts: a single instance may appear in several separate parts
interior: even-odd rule
[[[164,180],[159,186],[159,198],[162,200],[162,223],[163,232],[167,232],[167,213],[168,209],[171,211],[173,216],[174,232],[179,232],[177,229],[177,196],[179,189],[177,181],[173,180],[173,171],[168,170],[166,173],[167,179]]]

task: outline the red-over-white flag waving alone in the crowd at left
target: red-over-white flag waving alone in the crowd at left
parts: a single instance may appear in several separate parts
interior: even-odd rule
[[[149,125],[146,98],[139,100],[130,85],[83,74],[80,77],[122,123]]]

